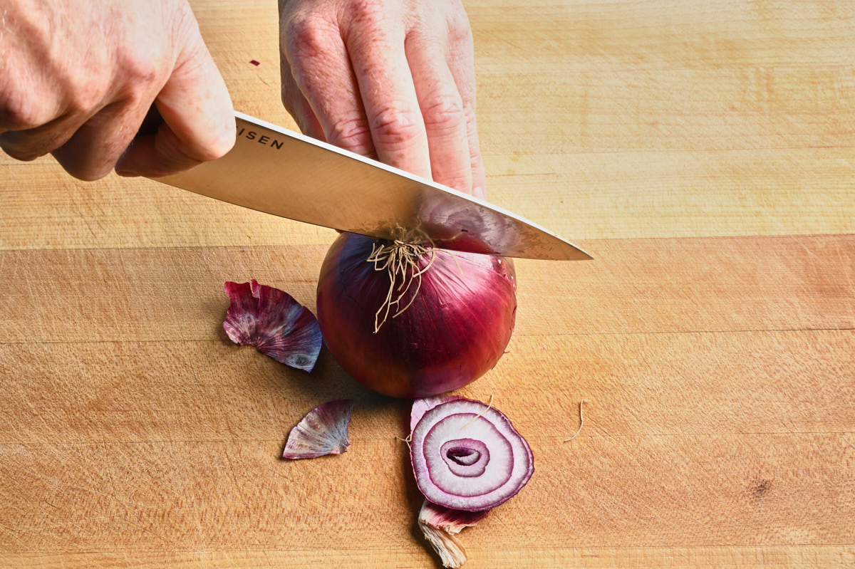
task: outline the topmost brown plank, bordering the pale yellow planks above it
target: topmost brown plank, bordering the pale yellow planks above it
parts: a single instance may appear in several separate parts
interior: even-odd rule
[[[855,238],[583,243],[594,261],[518,260],[515,337],[855,328]],[[0,343],[221,335],[226,280],[315,309],[325,246],[0,252]]]

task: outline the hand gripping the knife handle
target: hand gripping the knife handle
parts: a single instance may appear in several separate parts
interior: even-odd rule
[[[13,158],[51,153],[91,180],[176,173],[232,148],[232,101],[186,0],[5,0],[0,16],[0,148]],[[152,104],[162,124],[136,137]]]

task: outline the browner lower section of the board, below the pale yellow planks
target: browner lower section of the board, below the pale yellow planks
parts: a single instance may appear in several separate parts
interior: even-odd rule
[[[521,292],[509,354],[462,390],[495,397],[528,437],[537,469],[520,496],[464,535],[471,566],[526,566],[533,551],[549,554],[528,566],[593,561],[576,548],[621,565],[635,563],[641,546],[649,549],[639,563],[692,546],[685,566],[700,566],[758,551],[793,560],[820,554],[810,544],[852,543],[855,288],[846,283],[855,267],[840,258],[852,258],[855,241],[592,244],[610,262],[575,264],[588,273],[581,282],[557,279],[569,285],[569,294],[553,291],[563,303]],[[657,262],[664,249],[669,262]],[[333,535],[374,551],[366,565],[428,563],[413,535],[418,498],[405,446],[394,438],[404,435],[406,403],[354,384],[326,353],[309,375],[222,337],[229,272],[277,275],[310,295],[312,255],[292,255],[285,271],[282,256],[277,248],[2,254],[3,267],[15,258],[17,280],[31,284],[3,304],[47,311],[29,337],[4,321],[0,343],[8,395],[0,519],[19,522],[0,527],[0,542],[21,563],[56,543],[81,563],[95,562],[92,550],[105,564],[128,554],[127,566],[225,563],[215,556],[223,551],[243,552],[249,566],[333,562],[336,553],[325,552]],[[722,258],[740,257],[755,262],[723,268]],[[652,262],[633,263],[640,258]],[[529,264],[522,282],[538,274],[540,263]],[[74,267],[87,267],[87,278]],[[187,280],[169,267],[185,267]],[[55,275],[74,295],[62,294]],[[591,290],[634,302],[582,302]],[[716,306],[689,309],[705,296]],[[537,308],[547,306],[544,321]],[[351,451],[280,461],[302,414],[339,397],[357,402]],[[563,443],[581,399],[586,424]]]

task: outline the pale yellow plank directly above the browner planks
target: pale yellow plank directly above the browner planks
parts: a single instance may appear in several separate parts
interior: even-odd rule
[[[571,241],[855,232],[852,149],[486,156],[491,199]],[[8,157],[0,162],[9,161]],[[331,230],[150,180],[9,163],[0,250],[329,245]]]

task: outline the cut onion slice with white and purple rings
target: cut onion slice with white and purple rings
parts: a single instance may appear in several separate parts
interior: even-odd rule
[[[531,449],[498,409],[463,397],[431,403],[414,403],[414,422],[423,414],[410,440],[416,484],[430,502],[476,512],[504,503],[528,483]]]

